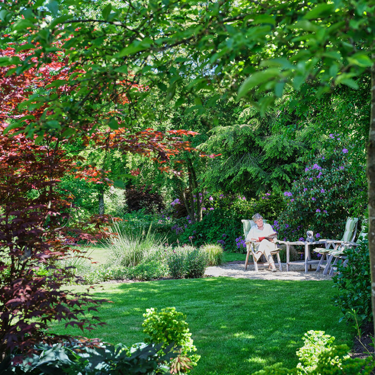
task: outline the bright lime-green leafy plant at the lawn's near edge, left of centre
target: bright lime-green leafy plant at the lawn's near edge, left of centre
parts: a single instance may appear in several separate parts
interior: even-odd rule
[[[161,309],[160,312],[156,308],[147,309],[143,316],[145,317],[142,323],[143,332],[149,335],[146,342],[160,343],[162,348],[168,345],[181,347],[181,356],[188,357],[190,365],[197,365],[201,356],[194,354],[197,348],[193,344],[188,324],[185,321],[186,315],[177,312],[174,307],[167,307]]]

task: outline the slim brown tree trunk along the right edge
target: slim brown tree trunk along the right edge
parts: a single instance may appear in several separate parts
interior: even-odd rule
[[[375,61],[375,54],[372,55]],[[371,116],[367,144],[367,181],[369,197],[369,253],[371,267],[371,301],[375,317],[375,63],[371,67]],[[374,319],[375,329],[375,319]]]

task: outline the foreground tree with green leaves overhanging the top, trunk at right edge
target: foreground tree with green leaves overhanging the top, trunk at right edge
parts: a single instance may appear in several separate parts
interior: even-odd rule
[[[98,10],[92,3],[19,0],[1,6],[0,27],[9,35],[4,41],[38,48],[29,59],[2,57],[0,64],[13,64],[20,74],[48,62],[58,42],[69,69],[78,71],[54,84],[72,88],[66,97],[57,101],[52,90],[23,104],[40,108],[38,121],[20,118],[12,126],[38,136],[90,132],[101,124],[136,126],[153,116],[142,104],[154,88],[167,100],[177,95],[177,106],[191,93],[187,111],[203,113],[224,96],[264,114],[285,88],[314,84],[317,96],[336,85],[356,90],[358,77],[371,74],[367,152],[375,282],[375,0],[119,1]],[[215,93],[207,103],[206,92]],[[113,102],[109,118],[100,116],[104,97]]]

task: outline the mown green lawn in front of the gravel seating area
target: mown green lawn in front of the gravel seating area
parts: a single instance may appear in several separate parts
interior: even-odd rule
[[[107,324],[84,333],[111,343],[144,341],[147,308],[174,306],[187,315],[194,344],[202,355],[193,375],[251,374],[265,365],[297,363],[295,351],[308,330],[326,331],[337,343],[352,344],[353,331],[338,323],[332,281],[279,281],[234,278],[159,280],[103,284],[93,292],[112,303],[99,316]],[[86,290],[75,287],[77,292]],[[62,324],[56,333],[82,335]]]

